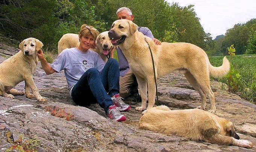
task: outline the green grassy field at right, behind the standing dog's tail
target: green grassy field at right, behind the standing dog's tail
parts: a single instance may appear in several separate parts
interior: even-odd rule
[[[209,57],[213,66],[220,66],[224,56]],[[229,62],[238,70],[241,77],[238,79],[237,94],[241,98],[256,104],[256,55],[227,56]],[[213,78],[214,80],[227,82],[227,78]]]

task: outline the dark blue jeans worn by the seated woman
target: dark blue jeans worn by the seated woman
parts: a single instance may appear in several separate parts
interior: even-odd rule
[[[80,106],[98,103],[107,113],[108,107],[114,105],[111,97],[117,93],[119,65],[117,60],[110,58],[101,73],[96,68],[88,69],[74,85],[71,96]]]

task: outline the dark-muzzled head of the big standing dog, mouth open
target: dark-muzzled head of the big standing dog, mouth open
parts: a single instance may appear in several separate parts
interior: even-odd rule
[[[137,28],[138,26],[130,20],[116,20],[112,24],[108,36],[113,45],[119,45],[122,44],[129,35],[133,35]]]

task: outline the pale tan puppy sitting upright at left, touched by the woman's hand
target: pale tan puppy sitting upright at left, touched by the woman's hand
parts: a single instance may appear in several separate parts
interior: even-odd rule
[[[1,96],[14,99],[14,95],[24,95],[24,92],[13,89],[13,87],[21,81],[25,81],[25,95],[27,98],[36,97],[38,101],[47,101],[39,94],[32,77],[38,64],[36,53],[42,46],[42,42],[38,39],[24,39],[19,45],[21,51],[0,64]],[[30,93],[30,89],[33,94]]]

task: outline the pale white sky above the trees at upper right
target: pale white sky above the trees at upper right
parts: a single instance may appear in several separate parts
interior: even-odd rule
[[[238,23],[256,18],[256,0],[166,0],[170,5],[194,5],[204,32],[211,33],[212,39],[225,35],[228,29]]]

